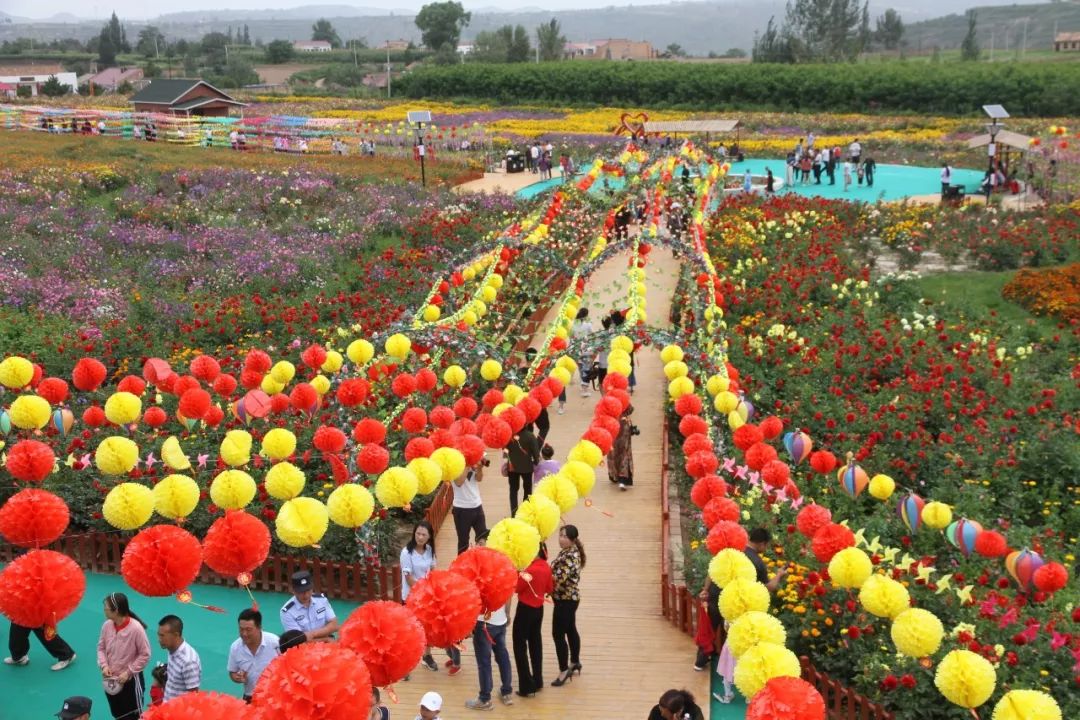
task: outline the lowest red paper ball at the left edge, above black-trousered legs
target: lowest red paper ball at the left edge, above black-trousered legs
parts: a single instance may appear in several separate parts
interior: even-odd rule
[[[23,627],[55,627],[86,592],[76,561],[53,551],[30,551],[0,571],[0,614]]]

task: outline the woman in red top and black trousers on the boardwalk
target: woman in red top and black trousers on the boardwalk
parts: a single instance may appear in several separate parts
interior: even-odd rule
[[[514,663],[517,665],[517,694],[532,697],[543,690],[543,599],[554,589],[548,547],[517,578],[517,612],[514,614]]]

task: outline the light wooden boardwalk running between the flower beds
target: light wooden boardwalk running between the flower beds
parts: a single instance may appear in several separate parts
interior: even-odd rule
[[[624,254],[612,258],[590,280],[585,307],[596,318],[597,327],[604,312],[625,307],[627,257]],[[659,246],[653,248],[647,269],[647,312],[657,323],[669,316],[677,269],[678,261],[669,250]],[[543,336],[543,330],[540,335]],[[602,465],[592,494],[593,506],[579,503],[564,518],[578,526],[588,556],[578,610],[582,675],[562,688],[550,687],[558,675],[558,665],[551,639],[549,604],[544,613],[543,663],[544,680],[549,684],[534,698],[515,695],[513,707],[502,707],[495,698],[494,716],[521,720],[564,720],[568,717],[644,720],[660,694],[670,688],[686,688],[707,707],[708,674],[696,673],[692,668],[693,641],[664,620],[660,610],[660,437],[667,383],[659,351],[640,351],[636,367],[639,384],[634,395],[634,421],[642,434],[634,438],[634,488],[622,492],[610,485],[607,470]],[[556,459],[565,459],[567,450],[588,427],[597,398],[597,393],[582,398],[580,390],[572,386],[568,391],[565,415],[557,415],[556,405],[552,405],[552,430],[548,439],[555,448]],[[489,457],[491,468],[497,468],[501,462],[498,456],[490,453]],[[510,512],[507,481],[498,472],[492,472],[483,483],[482,490],[487,521],[491,526]],[[549,539],[548,548],[554,557],[558,552],[556,536]],[[446,567],[456,549],[450,518],[436,539],[436,549],[440,567]],[[435,658],[442,665],[445,654],[437,653]],[[498,668],[495,668],[495,683],[498,692]],[[478,690],[471,641],[465,642],[462,671],[456,677],[447,676],[443,667],[438,673],[419,668],[409,682],[399,683],[395,690],[401,704],[391,707],[391,711],[401,717],[410,717],[420,696],[429,690],[443,695],[442,717],[447,720],[487,715],[464,707],[464,702],[475,697]]]

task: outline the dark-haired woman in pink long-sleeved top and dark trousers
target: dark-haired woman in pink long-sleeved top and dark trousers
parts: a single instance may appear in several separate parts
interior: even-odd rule
[[[116,720],[135,720],[143,715],[143,668],[150,662],[146,623],[132,612],[123,593],[106,596],[105,616],[108,620],[97,639],[97,666],[102,668],[109,710]]]

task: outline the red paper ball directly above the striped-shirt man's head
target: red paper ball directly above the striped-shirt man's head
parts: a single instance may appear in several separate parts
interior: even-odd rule
[[[124,548],[120,573],[132,589],[149,597],[175,595],[195,581],[202,546],[175,525],[140,530]]]

